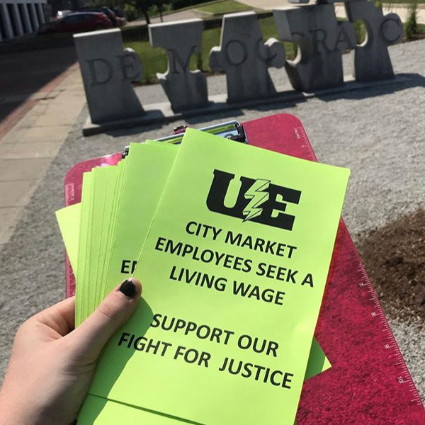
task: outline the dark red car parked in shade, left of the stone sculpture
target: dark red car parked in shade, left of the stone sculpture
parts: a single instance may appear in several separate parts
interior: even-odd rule
[[[84,31],[112,28],[113,23],[102,12],[74,12],[42,26],[38,32],[46,33],[81,33]]]

